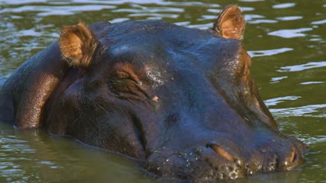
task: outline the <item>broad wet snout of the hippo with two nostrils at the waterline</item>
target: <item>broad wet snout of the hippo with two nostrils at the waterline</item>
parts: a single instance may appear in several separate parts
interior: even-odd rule
[[[280,136],[281,135],[281,136]],[[304,143],[285,134],[254,134],[251,140],[220,133],[188,149],[176,144],[157,148],[148,157],[146,168],[162,177],[214,182],[258,172],[291,170],[303,163]],[[193,139],[196,141],[196,139]]]

